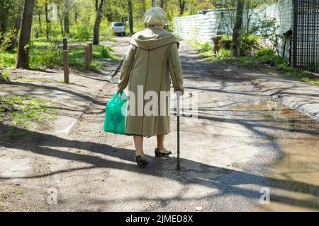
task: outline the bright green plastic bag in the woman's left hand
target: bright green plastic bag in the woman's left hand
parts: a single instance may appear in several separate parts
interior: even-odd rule
[[[116,93],[106,105],[104,126],[106,132],[125,134],[125,113],[128,97],[122,91]]]

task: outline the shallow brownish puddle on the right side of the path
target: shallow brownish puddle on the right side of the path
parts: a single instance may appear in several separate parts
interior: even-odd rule
[[[268,175],[270,203],[262,211],[319,210],[319,123],[272,99],[233,107],[238,115],[261,124],[267,140],[282,153]]]

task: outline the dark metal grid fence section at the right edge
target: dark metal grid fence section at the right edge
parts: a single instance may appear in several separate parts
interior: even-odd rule
[[[292,66],[319,74],[319,0],[293,0]]]

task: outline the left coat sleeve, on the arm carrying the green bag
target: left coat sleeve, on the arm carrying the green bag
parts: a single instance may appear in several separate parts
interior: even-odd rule
[[[118,78],[118,85],[116,87],[116,91],[120,93],[122,90],[126,88],[128,85],[128,79],[130,78],[130,72],[133,69],[133,61],[135,56],[136,48],[133,44],[130,44],[128,48],[128,52],[125,55],[125,59],[123,60],[123,64],[120,71],[120,76]]]

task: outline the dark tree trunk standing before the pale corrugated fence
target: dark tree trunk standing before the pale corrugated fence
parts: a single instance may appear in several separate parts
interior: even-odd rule
[[[240,32],[242,30],[242,13],[244,11],[244,0],[237,0],[236,21],[233,31],[232,56],[240,57]]]

